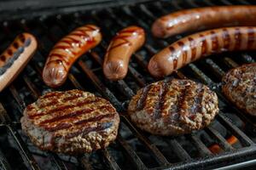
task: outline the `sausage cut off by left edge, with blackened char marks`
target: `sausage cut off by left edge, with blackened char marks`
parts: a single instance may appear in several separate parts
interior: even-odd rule
[[[22,33],[0,55],[0,92],[19,75],[37,47],[35,37],[29,33]]]

